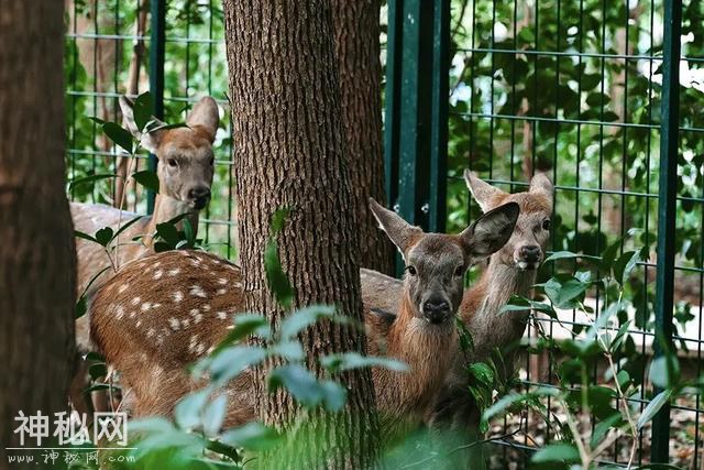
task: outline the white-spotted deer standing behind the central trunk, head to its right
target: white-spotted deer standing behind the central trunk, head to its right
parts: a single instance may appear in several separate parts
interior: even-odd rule
[[[510,238],[518,205],[487,211],[460,234],[426,233],[394,211],[370,208],[406,263],[402,302],[392,315],[364,307],[367,353],[405,362],[408,373],[373,368],[383,428],[417,426],[452,364],[458,313],[469,266]],[[240,267],[213,254],[167,251],[133,261],[105,284],[89,311],[91,338],[130,390],[134,416],[168,415],[198,387],[186,365],[211,351],[243,310]],[[226,425],[256,415],[250,374],[229,385]]]

